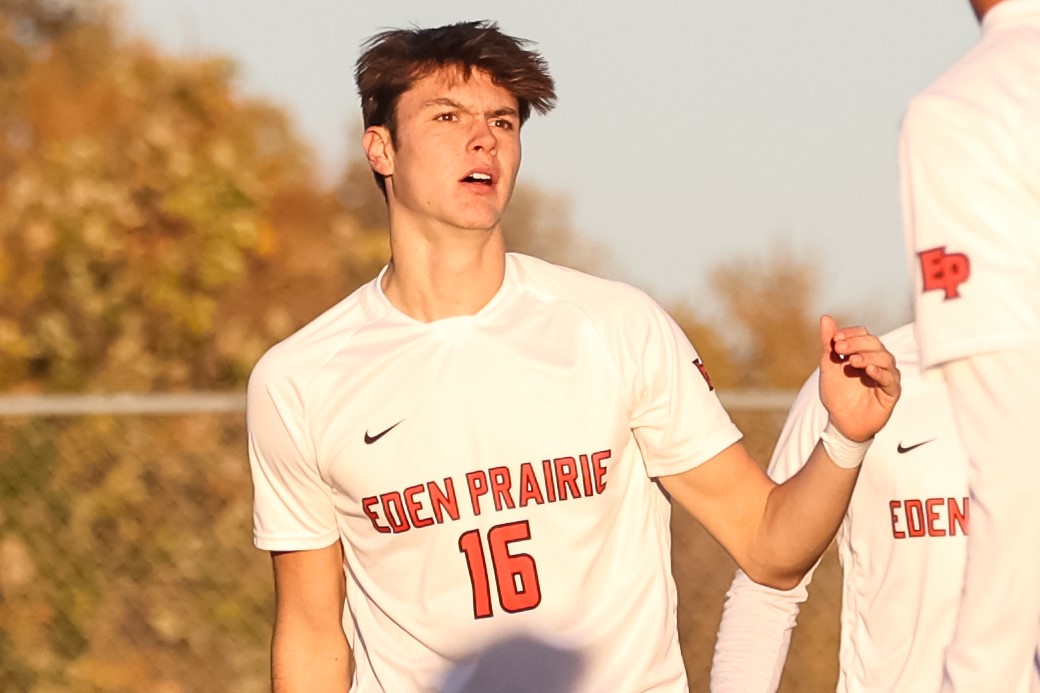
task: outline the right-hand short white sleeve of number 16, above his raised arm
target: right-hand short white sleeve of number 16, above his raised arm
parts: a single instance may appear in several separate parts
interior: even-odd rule
[[[651,477],[676,474],[740,439],[696,350],[652,301],[626,341],[631,429]]]

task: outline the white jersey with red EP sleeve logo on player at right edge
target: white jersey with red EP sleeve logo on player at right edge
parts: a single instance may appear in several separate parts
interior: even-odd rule
[[[1040,0],[911,100],[900,166],[925,367],[1040,338]]]

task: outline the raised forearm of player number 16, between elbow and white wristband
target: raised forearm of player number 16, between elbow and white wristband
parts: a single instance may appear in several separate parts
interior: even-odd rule
[[[834,538],[858,477],[858,466],[839,467],[816,443],[805,466],[770,492],[749,575],[770,587],[795,587]]]

